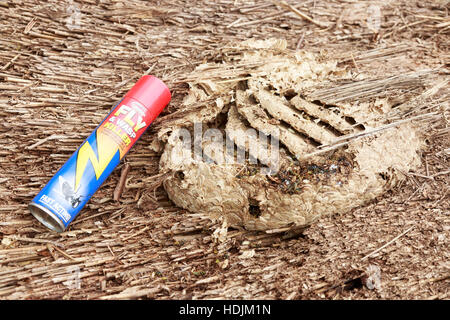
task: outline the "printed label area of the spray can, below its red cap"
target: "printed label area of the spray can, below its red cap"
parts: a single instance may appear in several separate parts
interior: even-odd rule
[[[147,129],[152,116],[138,101],[123,99],[33,202],[67,227]]]

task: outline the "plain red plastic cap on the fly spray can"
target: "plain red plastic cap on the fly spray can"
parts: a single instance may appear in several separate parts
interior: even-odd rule
[[[141,77],[125,97],[136,99],[155,116],[163,111],[172,98],[164,82],[148,75]]]

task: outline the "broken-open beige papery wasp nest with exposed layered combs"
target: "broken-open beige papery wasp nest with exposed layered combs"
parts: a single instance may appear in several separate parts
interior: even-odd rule
[[[374,199],[420,164],[416,125],[390,117],[392,96],[399,104],[421,90],[421,74],[353,79],[325,55],[276,39],[224,48],[219,58],[185,79],[185,112],[159,132],[160,170],[171,173],[163,184],[176,205],[248,230],[302,228]],[[204,138],[196,158],[180,135],[193,137],[194,123],[234,146]],[[279,152],[249,129],[276,136]],[[239,150],[257,163],[230,161]]]

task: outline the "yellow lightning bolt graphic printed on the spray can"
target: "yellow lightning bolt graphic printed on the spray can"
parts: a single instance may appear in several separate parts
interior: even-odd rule
[[[106,167],[111,162],[111,159],[117,152],[117,143],[108,135],[102,133],[101,129],[102,128],[99,128],[97,130],[98,158],[95,155],[95,152],[92,149],[91,145],[89,144],[89,141],[86,141],[78,150],[77,167],[75,171],[75,190],[77,190],[80,184],[81,178],[83,177],[84,170],[86,169],[89,160],[94,167],[95,176],[98,180],[98,178],[100,178],[103,171],[105,171]]]

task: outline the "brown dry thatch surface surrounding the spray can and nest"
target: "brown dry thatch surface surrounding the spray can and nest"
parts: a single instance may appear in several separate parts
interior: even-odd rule
[[[442,105],[442,121],[429,127],[421,169],[300,237],[229,230],[220,239],[220,226],[170,203],[149,148],[183,116],[195,66],[249,37],[326,49],[373,76],[439,69],[440,83],[450,58],[446,3],[373,1],[382,14],[376,33],[367,8],[348,1],[296,5],[309,20],[265,1],[0,1],[0,297],[447,299],[448,85],[423,101]],[[71,5],[79,10],[72,25]],[[120,201],[118,168],[67,232],[49,232],[28,202],[145,73],[164,80],[173,100],[127,155]],[[370,265],[381,289],[344,285]],[[81,286],[69,289],[76,268]]]

